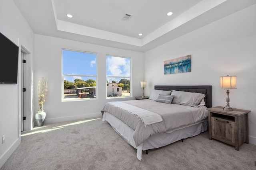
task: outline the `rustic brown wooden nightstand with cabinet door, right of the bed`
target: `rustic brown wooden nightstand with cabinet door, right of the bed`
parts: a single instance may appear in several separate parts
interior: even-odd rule
[[[249,143],[248,113],[250,110],[224,110],[223,107],[208,108],[209,139],[216,139],[235,147]]]

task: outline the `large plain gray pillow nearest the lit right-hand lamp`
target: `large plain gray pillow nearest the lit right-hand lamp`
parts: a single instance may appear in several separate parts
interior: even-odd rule
[[[173,104],[181,104],[186,106],[198,107],[198,105],[204,100],[205,95],[196,92],[183,92],[172,90],[172,95],[174,98],[172,100]]]

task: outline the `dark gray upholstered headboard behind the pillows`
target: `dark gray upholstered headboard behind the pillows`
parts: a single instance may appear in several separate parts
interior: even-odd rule
[[[212,107],[212,86],[155,86],[155,89],[202,93],[205,95],[205,106]]]

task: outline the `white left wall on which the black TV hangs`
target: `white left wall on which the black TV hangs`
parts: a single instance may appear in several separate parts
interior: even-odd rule
[[[34,32],[12,0],[0,1],[0,32],[33,54]],[[20,144],[20,63],[18,66],[18,84],[0,84],[0,167]]]

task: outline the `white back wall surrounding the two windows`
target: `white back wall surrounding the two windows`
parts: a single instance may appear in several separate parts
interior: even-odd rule
[[[61,102],[62,48],[97,53],[98,93],[96,100]],[[132,97],[106,99],[106,55],[130,57],[132,63]],[[144,78],[144,53],[81,43],[67,39],[35,34],[34,80],[42,76],[49,78],[48,94],[44,103],[45,123],[68,121],[102,116],[101,109],[106,102],[134,100],[142,94],[140,81]],[[82,65],[78,66],[83,67]],[[35,92],[37,95],[37,92]],[[38,104],[37,98],[34,103]],[[37,111],[38,106],[35,106]]]

